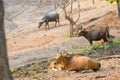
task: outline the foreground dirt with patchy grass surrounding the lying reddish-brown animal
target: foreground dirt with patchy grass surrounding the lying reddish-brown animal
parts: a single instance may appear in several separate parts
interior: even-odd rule
[[[85,51],[85,56],[96,59],[101,63],[97,72],[91,70],[53,71],[48,68],[52,58],[47,58],[17,68],[13,71],[15,80],[119,80],[120,78],[120,45],[114,45],[107,49],[101,48],[94,51]]]

